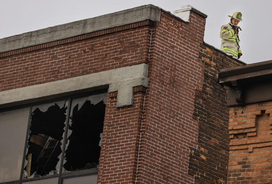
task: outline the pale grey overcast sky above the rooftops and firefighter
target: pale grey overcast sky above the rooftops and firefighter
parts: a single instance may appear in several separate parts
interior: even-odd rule
[[[257,63],[272,60],[272,0],[0,0],[0,39],[55,25],[153,4],[173,13],[191,5],[208,15],[204,41],[220,48],[219,32],[234,12],[241,12],[240,60]],[[1,46],[0,46],[1,47]]]

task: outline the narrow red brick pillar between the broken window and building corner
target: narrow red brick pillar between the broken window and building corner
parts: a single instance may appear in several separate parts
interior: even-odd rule
[[[116,108],[108,94],[97,183],[135,183],[145,88],[134,88],[133,106]]]

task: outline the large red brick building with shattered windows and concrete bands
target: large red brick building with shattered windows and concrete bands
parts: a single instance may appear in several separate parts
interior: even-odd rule
[[[217,72],[245,63],[206,17],[145,5],[0,39],[0,183],[226,183]]]

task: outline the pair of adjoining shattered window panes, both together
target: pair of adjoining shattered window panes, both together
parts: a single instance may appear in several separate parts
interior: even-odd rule
[[[97,171],[106,95],[33,106],[22,179],[62,177],[62,173],[68,178],[73,171]]]

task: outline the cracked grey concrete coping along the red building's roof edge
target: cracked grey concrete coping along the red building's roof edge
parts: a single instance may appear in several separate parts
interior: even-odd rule
[[[99,17],[2,38],[0,39],[0,53],[62,40],[73,36],[92,33],[135,22],[145,20],[160,21],[160,19],[161,8],[154,5],[139,6]]]

